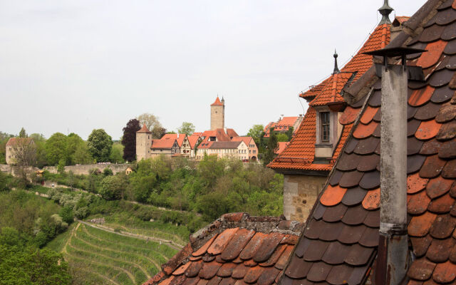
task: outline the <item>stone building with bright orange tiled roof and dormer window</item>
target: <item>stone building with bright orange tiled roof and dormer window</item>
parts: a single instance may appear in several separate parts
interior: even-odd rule
[[[352,117],[361,110],[361,105],[346,107],[342,90],[358,81],[373,66],[372,56],[364,53],[384,48],[389,41],[390,24],[379,24],[343,68],[339,70],[335,53],[331,76],[300,94],[309,103],[306,115],[289,145],[268,165],[284,174],[287,219],[304,221],[309,216],[353,127],[353,123],[338,123],[338,117],[344,108]]]

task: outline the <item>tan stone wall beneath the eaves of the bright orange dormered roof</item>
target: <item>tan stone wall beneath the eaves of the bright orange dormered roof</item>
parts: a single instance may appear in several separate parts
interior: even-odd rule
[[[284,175],[286,219],[305,222],[326,179],[326,176]]]

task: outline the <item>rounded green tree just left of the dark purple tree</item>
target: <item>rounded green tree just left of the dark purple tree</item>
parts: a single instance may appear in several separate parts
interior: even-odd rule
[[[107,162],[113,148],[113,140],[105,130],[93,130],[88,136],[87,146],[90,155],[97,162]]]

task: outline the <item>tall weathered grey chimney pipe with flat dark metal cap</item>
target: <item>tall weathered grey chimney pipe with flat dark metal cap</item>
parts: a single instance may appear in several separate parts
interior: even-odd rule
[[[407,235],[407,95],[405,56],[414,48],[383,48],[380,133],[380,237],[376,284],[398,285],[408,270]],[[423,52],[423,50],[420,50]],[[402,64],[388,65],[400,56]]]

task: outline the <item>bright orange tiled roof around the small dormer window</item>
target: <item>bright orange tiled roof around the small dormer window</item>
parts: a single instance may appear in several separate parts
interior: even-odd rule
[[[291,139],[290,144],[281,152],[268,167],[278,171],[326,171],[332,169],[334,161],[337,159],[343,144],[346,142],[348,134],[351,132],[353,122],[344,124],[341,138],[333,152],[333,157],[327,164],[314,163],[315,142],[316,142],[316,105],[326,105],[330,102],[343,101],[340,93],[346,83],[353,83],[358,80],[366,71],[373,65],[372,56],[363,54],[367,51],[375,51],[385,47],[390,41],[390,25],[382,24],[375,28],[371,36],[356,56],[351,58],[351,61],[341,68],[341,73],[335,73],[320,83],[314,86],[306,93],[300,96],[306,99],[312,99],[307,109],[307,113],[301,122],[299,130]],[[350,81],[349,81],[350,79]],[[346,117],[355,117],[361,110],[362,105],[353,105],[346,108]],[[341,118],[346,120],[346,117]]]

